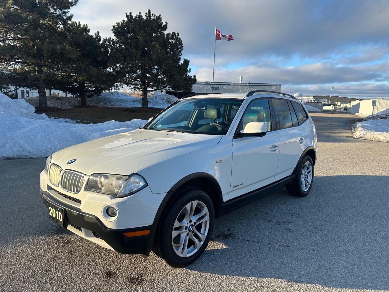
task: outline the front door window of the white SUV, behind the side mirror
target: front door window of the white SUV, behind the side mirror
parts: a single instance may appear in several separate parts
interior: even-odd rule
[[[257,99],[251,102],[247,107],[238,130],[243,130],[247,123],[252,121],[261,121],[268,125],[268,132],[272,130],[272,121],[270,119],[270,106],[268,99]]]

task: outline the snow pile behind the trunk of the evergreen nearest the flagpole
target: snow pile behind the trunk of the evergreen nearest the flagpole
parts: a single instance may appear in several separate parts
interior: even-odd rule
[[[175,102],[177,97],[168,95],[166,93],[157,93],[154,96],[149,97],[149,107],[156,107],[164,109]],[[87,100],[91,106],[100,107],[141,107],[142,98],[134,97],[119,91],[103,92],[98,96],[91,97]]]

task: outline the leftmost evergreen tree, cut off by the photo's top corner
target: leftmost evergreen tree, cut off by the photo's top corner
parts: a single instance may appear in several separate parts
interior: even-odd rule
[[[39,107],[47,107],[47,83],[64,65],[65,28],[77,1],[0,0],[0,63],[25,68],[38,89]]]

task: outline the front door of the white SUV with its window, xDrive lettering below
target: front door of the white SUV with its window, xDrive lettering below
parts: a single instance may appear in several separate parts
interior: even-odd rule
[[[273,183],[277,171],[280,141],[273,131],[269,99],[256,99],[245,109],[237,131],[251,121],[268,124],[263,137],[237,137],[232,143],[230,199]]]

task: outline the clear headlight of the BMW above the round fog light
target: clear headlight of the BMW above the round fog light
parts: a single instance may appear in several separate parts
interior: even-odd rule
[[[99,173],[89,177],[87,190],[121,198],[132,195],[145,186],[147,186],[147,183],[139,174],[121,176]]]

